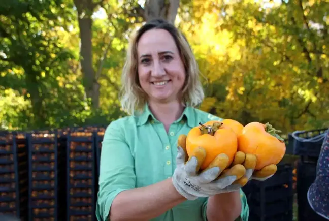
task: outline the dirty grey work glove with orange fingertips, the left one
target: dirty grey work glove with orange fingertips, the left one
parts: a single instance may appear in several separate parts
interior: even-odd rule
[[[173,185],[182,196],[188,200],[195,200],[198,197],[239,190],[239,187],[229,186],[245,175],[244,166],[236,164],[221,175],[229,162],[228,156],[222,153],[217,155],[206,169],[199,171],[206,158],[206,150],[202,147],[195,148],[188,157],[185,144],[186,136],[181,135],[178,139],[177,166],[173,175]]]

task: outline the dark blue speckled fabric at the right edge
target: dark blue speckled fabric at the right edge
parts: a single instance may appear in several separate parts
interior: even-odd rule
[[[324,138],[317,162],[316,178],[307,197],[312,209],[329,220],[329,132]]]

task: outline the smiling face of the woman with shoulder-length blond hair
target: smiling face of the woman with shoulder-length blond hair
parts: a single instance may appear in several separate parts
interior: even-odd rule
[[[170,33],[163,29],[146,31],[138,42],[137,53],[139,81],[149,100],[177,100],[185,82],[185,69]]]

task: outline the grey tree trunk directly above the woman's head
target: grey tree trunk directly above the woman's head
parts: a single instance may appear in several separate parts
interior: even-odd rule
[[[174,24],[180,0],[146,0],[144,18],[150,21],[155,18],[163,18]]]

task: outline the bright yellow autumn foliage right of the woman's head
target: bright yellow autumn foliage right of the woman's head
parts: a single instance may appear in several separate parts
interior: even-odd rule
[[[324,127],[328,4],[269,4],[193,1],[181,8],[180,27],[210,83],[202,108],[285,132]]]

